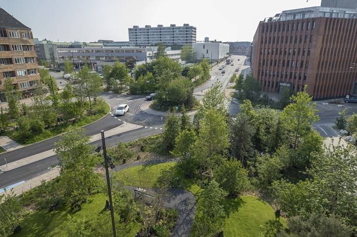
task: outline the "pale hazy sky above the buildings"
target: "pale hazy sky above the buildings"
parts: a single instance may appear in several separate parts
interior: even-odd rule
[[[252,41],[265,17],[319,6],[320,0],[1,0],[0,7],[35,38],[54,41],[128,41],[127,28],[145,24],[197,27],[197,40]]]

